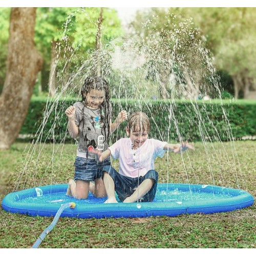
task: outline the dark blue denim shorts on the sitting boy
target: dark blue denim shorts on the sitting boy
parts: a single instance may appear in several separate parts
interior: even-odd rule
[[[144,176],[131,178],[120,175],[112,166],[105,166],[103,172],[108,173],[115,183],[115,191],[118,198],[124,201],[125,198],[130,197],[135,189],[144,181],[145,179],[155,180],[154,185],[138,202],[152,202],[156,196],[157,183],[158,183],[158,173],[155,170],[149,170]],[[102,173],[103,175],[103,173]]]

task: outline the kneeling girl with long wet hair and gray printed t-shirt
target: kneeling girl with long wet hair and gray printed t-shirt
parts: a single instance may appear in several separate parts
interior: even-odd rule
[[[118,114],[112,123],[109,84],[102,77],[88,77],[81,89],[82,100],[65,111],[68,117],[68,130],[72,138],[79,136],[75,176],[69,181],[67,195],[86,199],[90,191],[95,197],[105,197],[106,192],[101,178],[102,169],[110,165],[110,158],[97,163],[88,148],[104,151],[108,148],[111,133],[127,119],[125,110]]]

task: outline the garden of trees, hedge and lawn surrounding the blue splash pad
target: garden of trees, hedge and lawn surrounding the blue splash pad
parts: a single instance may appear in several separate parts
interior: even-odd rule
[[[139,109],[151,117],[152,137],[194,141],[195,152],[184,159],[157,159],[160,183],[240,187],[255,198],[255,17],[255,8],[145,8],[124,27],[115,8],[0,8],[0,200],[33,186],[35,165],[41,185],[73,177],[76,142],[64,112],[79,100],[90,66],[108,78],[113,116]],[[146,46],[150,61],[132,58],[134,45]],[[173,53],[179,58],[170,70]],[[123,136],[124,124],[112,139]],[[20,178],[31,145],[40,158]],[[52,221],[2,208],[0,214],[0,248],[31,247]],[[255,206],[175,218],[60,218],[41,247],[254,248]]]

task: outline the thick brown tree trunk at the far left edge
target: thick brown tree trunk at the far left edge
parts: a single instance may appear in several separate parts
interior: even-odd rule
[[[34,45],[36,8],[12,8],[7,74],[0,97],[0,149],[8,149],[26,118],[42,58]]]

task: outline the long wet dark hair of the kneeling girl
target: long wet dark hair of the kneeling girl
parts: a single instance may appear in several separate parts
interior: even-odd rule
[[[83,86],[81,88],[81,102],[84,107],[87,104],[86,94],[90,93],[91,90],[104,91],[105,97],[104,101],[100,104],[100,119],[103,120],[104,126],[102,127],[102,135],[104,135],[105,141],[109,142],[110,138],[110,119],[111,119],[111,107],[110,107],[110,91],[109,83],[101,76],[89,76],[84,80]],[[107,131],[107,132],[106,132]]]

